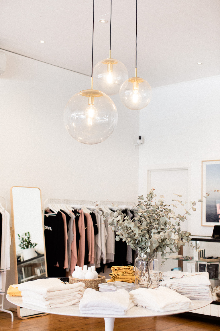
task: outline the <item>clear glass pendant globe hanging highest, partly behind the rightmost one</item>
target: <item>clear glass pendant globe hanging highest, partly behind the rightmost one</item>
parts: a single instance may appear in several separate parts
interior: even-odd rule
[[[115,59],[102,60],[93,69],[94,87],[108,95],[119,93],[121,85],[127,79],[126,67]]]

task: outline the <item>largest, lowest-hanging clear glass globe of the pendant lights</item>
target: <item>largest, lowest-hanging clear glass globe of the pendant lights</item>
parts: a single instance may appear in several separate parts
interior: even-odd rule
[[[110,136],[117,125],[118,113],[108,95],[84,90],[68,101],[63,119],[66,130],[74,139],[92,145]]]

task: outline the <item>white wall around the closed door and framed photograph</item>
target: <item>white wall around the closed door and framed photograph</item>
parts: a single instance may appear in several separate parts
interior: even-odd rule
[[[201,198],[201,161],[220,159],[219,87],[215,76],[153,89],[140,113],[139,194],[147,193],[148,170],[188,168],[189,201]],[[187,218],[192,234],[212,235],[213,227],[201,226],[200,204]]]

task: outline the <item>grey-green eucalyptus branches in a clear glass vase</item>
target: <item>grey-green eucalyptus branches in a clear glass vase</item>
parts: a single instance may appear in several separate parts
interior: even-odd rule
[[[163,201],[164,196],[161,195],[157,199],[153,191],[154,189],[147,194],[146,199],[139,196],[138,203],[134,206],[136,217],[132,220],[117,209],[110,214],[102,211],[104,221],[108,220],[111,229],[116,231],[115,240],[122,238],[123,241],[127,242],[127,245],[139,252],[135,267],[136,286],[152,286],[151,272],[157,271],[158,273],[159,271],[159,266],[156,267],[156,260],[154,267],[151,266],[157,253],[161,252],[161,257],[165,258],[167,254],[178,252],[180,246],[190,242],[191,233],[180,229],[180,221],[185,221],[185,215],[190,215],[189,211],[185,210],[183,216],[175,214],[173,211],[178,208],[178,205],[182,205],[182,201],[177,200],[181,195],[175,194],[174,203],[167,205]],[[202,202],[202,200],[199,199],[198,202]],[[195,201],[191,202],[190,209],[195,211],[196,204]],[[191,243],[191,247],[194,248],[195,246]],[[170,249],[169,253],[167,253],[168,248]]]

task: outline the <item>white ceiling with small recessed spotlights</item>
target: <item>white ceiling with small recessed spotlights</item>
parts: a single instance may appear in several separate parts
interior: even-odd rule
[[[135,5],[112,0],[111,56],[129,76]],[[92,6],[92,0],[0,0],[0,48],[91,75]],[[103,18],[108,23],[99,23]],[[110,0],[95,0],[94,65],[108,58],[109,21]],[[220,1],[138,0],[137,54],[138,76],[152,87],[219,75]]]

